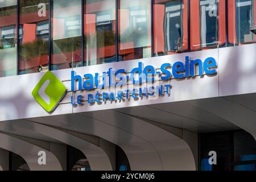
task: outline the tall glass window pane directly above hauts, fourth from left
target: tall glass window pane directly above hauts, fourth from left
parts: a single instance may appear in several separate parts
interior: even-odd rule
[[[115,0],[84,0],[86,65],[114,62]]]

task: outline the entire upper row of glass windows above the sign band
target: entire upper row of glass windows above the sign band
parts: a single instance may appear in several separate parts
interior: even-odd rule
[[[0,77],[255,43],[255,7],[256,0],[2,0]]]

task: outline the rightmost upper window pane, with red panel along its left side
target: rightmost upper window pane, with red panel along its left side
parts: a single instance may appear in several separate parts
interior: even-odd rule
[[[236,46],[255,41],[255,35],[250,27],[256,26],[254,0],[228,0],[228,30],[229,45]]]

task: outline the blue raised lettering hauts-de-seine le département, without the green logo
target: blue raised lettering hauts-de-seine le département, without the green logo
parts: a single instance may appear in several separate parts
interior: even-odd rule
[[[89,93],[86,96],[79,94],[76,98],[71,97],[73,106],[94,104],[97,102],[113,102],[121,100],[139,100],[143,97],[154,99],[155,96],[163,96],[165,93],[170,96],[172,85],[167,82],[160,84],[159,80],[168,81],[172,78],[183,79],[185,77],[195,77],[196,75],[214,75],[217,73],[217,63],[213,57],[208,57],[204,61],[200,59],[190,60],[185,57],[185,64],[181,61],[173,65],[164,63],[160,69],[154,68],[153,65],[144,65],[138,63],[131,72],[125,68],[115,70],[109,68],[108,71],[95,73],[94,75],[86,73],[76,75],[75,71],[71,72],[71,91],[83,92],[97,90],[94,94]]]

